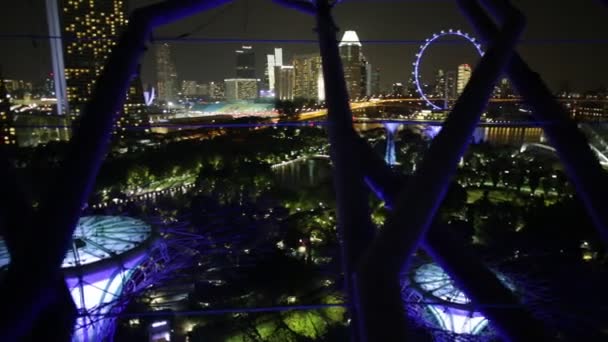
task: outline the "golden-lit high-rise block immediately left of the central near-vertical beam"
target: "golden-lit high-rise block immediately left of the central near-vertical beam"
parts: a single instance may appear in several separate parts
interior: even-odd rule
[[[318,54],[296,55],[293,57],[294,97],[323,100],[323,71],[321,56]]]

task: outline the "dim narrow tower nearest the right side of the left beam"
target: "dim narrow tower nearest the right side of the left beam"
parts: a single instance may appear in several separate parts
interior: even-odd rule
[[[156,81],[160,100],[177,100],[177,70],[171,57],[171,46],[167,43],[156,46]]]

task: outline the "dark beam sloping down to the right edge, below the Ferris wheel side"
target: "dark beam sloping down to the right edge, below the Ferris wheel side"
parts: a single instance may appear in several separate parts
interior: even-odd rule
[[[498,29],[492,19],[473,0],[459,0],[462,10],[483,37],[496,37]],[[503,0],[483,0],[494,17],[504,21]],[[581,197],[587,213],[593,220],[605,243],[608,243],[608,176],[602,169],[597,157],[589,147],[587,138],[569,118],[564,107],[555,101],[551,91],[540,76],[532,71],[519,54],[514,54],[506,69],[507,76],[515,88],[532,107],[532,115],[539,121],[550,120],[543,129],[551,145],[564,165],[566,174]]]

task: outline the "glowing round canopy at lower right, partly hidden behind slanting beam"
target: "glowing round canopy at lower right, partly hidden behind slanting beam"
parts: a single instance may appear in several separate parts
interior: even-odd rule
[[[512,287],[504,276],[499,275],[499,279]],[[432,330],[436,340],[486,341],[496,337],[489,321],[439,265],[426,263],[413,268],[402,278],[402,290],[408,315]]]

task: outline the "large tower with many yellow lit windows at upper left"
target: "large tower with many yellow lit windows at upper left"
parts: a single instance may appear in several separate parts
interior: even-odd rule
[[[127,25],[127,5],[122,0],[61,0],[61,5],[67,99],[78,114]]]

